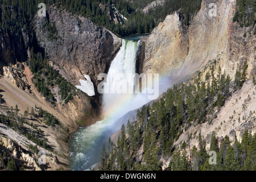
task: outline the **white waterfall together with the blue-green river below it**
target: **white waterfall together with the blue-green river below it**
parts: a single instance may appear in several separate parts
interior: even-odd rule
[[[134,40],[137,39],[137,40]],[[117,75],[126,79],[129,74],[135,73],[135,62],[137,57],[139,40],[138,36],[122,39],[122,47],[112,61],[108,72],[107,83],[110,87],[104,90],[113,90],[115,83],[120,81]],[[127,81],[127,88],[133,86],[133,82]],[[131,100],[134,94],[129,93],[104,93],[103,111],[105,119],[96,124],[78,130],[69,141],[69,162],[73,170],[92,169],[100,160],[102,146],[108,146],[109,137],[119,128],[113,126],[114,122],[128,111],[137,109],[128,107],[125,101]]]

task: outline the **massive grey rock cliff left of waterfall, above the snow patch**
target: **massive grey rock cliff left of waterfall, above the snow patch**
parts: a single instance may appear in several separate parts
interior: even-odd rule
[[[65,69],[74,85],[79,85],[84,75],[108,72],[122,44],[120,38],[97,27],[90,19],[72,15],[56,6],[47,10],[47,17],[35,15],[34,24],[40,46],[49,59]],[[55,31],[49,31],[49,27]]]

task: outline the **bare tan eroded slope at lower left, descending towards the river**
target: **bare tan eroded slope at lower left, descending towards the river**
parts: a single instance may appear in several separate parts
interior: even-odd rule
[[[60,127],[49,127],[44,122],[42,123],[36,121],[35,118],[27,117],[26,120],[28,121],[28,123],[33,123],[33,125],[36,126],[36,129],[40,129],[43,131],[44,136],[48,139],[48,144],[52,146],[53,151],[58,156],[58,158],[65,164],[68,164],[68,145],[65,139],[68,138],[70,136],[70,133],[74,132],[75,129],[77,129],[79,126],[75,122],[72,122],[71,120],[66,118],[64,114],[61,114],[59,111],[53,109],[53,107],[51,107],[49,104],[44,103],[46,101],[44,101],[42,98],[40,99],[39,97],[36,97],[34,90],[31,90],[30,93],[30,90],[22,90],[20,88],[17,88],[13,84],[13,82],[11,82],[9,78],[5,76],[0,78],[0,90],[2,94],[2,99],[4,101],[0,106],[1,115],[9,115],[10,117],[10,113],[8,111],[9,109],[7,108],[15,108],[15,105],[19,108],[18,114],[23,115],[24,111],[27,108],[31,110],[31,108],[35,108],[36,105],[38,107],[42,107],[43,110],[46,110],[48,113],[53,114],[58,119],[61,125]],[[19,119],[18,122],[20,122]],[[32,144],[33,146],[35,145],[34,142],[28,140],[24,135],[20,134],[20,132],[14,131],[13,129],[10,129],[4,124],[1,124],[0,134],[15,141],[20,146],[20,148],[23,148],[25,150],[29,150],[27,146],[28,144]],[[39,148],[40,147],[38,146],[38,149]],[[44,148],[41,149],[43,151],[47,151]],[[47,154],[50,153],[51,152],[47,151]]]

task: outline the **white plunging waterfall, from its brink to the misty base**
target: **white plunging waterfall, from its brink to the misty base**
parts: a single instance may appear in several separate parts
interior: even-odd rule
[[[112,64],[110,65],[108,72],[108,79],[106,82],[106,86],[104,88],[105,93],[103,94],[103,113],[105,115],[111,115],[112,120],[118,119],[118,117],[122,117],[122,115],[126,114],[127,109],[122,109],[121,112],[115,113],[115,118],[113,118],[113,112],[115,112],[118,107],[123,105],[123,98],[127,100],[127,98],[131,99],[133,97],[133,93],[117,93],[117,84],[118,82],[127,83],[126,91],[129,88],[134,87],[134,82],[129,80],[129,76],[133,75],[136,71],[136,58],[137,51],[139,48],[139,41],[134,42],[133,40],[122,39],[122,47],[120,48],[117,56],[115,56]],[[122,87],[122,86],[121,86]]]

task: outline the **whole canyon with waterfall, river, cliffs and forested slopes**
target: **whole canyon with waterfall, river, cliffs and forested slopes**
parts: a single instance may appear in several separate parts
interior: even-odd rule
[[[255,1],[37,2],[0,1],[0,170],[253,168]]]

